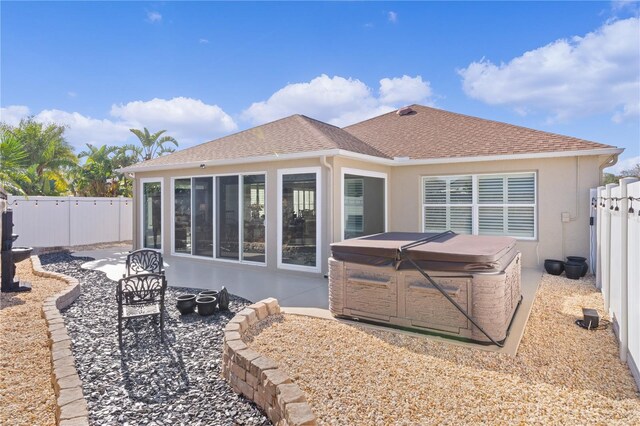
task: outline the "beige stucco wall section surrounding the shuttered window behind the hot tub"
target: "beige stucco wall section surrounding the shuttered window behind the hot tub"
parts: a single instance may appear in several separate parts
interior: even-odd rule
[[[589,257],[589,188],[598,186],[600,164],[606,158],[566,157],[395,167],[390,180],[390,228],[421,227],[421,177],[472,173],[536,172],[538,236],[518,241],[525,267],[541,267],[544,259],[567,255]],[[571,220],[563,223],[563,212]]]

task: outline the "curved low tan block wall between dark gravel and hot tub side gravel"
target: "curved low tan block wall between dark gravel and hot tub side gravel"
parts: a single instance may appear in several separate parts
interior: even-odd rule
[[[254,401],[277,426],[311,426],[316,416],[304,392],[271,358],[250,349],[242,335],[258,321],[280,313],[274,298],[249,305],[224,329],[222,375],[234,392]]]

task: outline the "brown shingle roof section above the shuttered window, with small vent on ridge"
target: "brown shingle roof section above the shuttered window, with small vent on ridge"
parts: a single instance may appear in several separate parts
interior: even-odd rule
[[[390,112],[344,130],[388,157],[412,159],[580,151],[611,145],[456,114],[421,105]]]

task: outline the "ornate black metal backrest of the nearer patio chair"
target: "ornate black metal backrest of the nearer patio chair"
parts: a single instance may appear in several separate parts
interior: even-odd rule
[[[167,280],[162,274],[129,275],[118,280],[117,300],[120,305],[164,305]]]

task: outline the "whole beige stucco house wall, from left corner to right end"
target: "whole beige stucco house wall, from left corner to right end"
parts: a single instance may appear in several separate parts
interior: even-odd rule
[[[224,167],[207,167],[136,173],[134,185],[134,245],[140,245],[139,195],[140,179],[163,179],[164,223],[163,252],[171,252],[171,178],[211,176],[233,173],[266,173],[267,262],[269,269],[277,269],[277,173],[279,169],[320,167],[322,185],[321,266],[327,272],[329,244],[342,239],[341,180],[343,168],[360,169],[387,174],[388,231],[421,230],[421,177],[475,173],[530,172],[537,173],[538,237],[535,241],[518,241],[525,267],[541,267],[544,259],[563,259],[567,255],[588,257],[589,254],[589,188],[599,185],[600,165],[606,157],[566,157],[537,160],[508,160],[474,163],[452,163],[424,166],[383,166],[343,157],[328,158],[330,167],[322,159],[302,159],[253,163]],[[332,212],[332,214],[328,214]],[[569,213],[571,220],[561,221],[561,214]],[[319,224],[320,225],[320,224]],[[202,260],[216,263],[215,260]],[[247,264],[246,267],[260,268]]]

